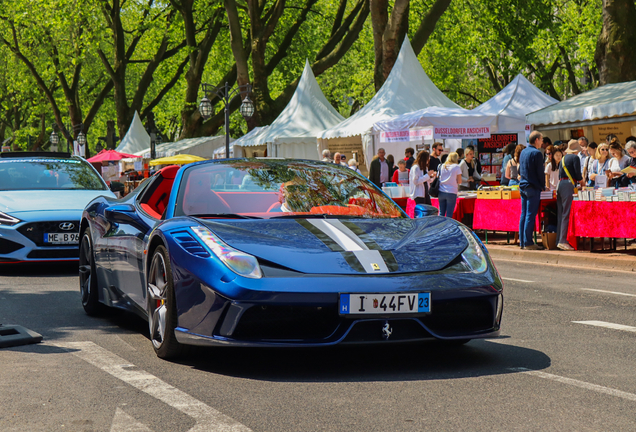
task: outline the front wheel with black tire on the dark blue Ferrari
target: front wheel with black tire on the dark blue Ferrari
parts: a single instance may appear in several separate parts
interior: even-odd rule
[[[148,271],[147,312],[150,341],[157,357],[174,359],[184,354],[184,346],[177,342],[174,329],[177,327],[177,307],[174,280],[168,251],[158,246],[152,255]],[[163,321],[163,325],[162,324]],[[163,334],[162,328],[163,327]]]

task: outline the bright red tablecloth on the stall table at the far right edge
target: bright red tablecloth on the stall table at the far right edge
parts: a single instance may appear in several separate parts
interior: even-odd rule
[[[636,238],[636,202],[572,201],[568,242],[577,237]]]

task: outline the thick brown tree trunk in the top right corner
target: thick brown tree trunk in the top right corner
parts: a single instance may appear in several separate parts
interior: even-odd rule
[[[636,80],[634,0],[603,0],[603,29],[594,60],[600,84]]]

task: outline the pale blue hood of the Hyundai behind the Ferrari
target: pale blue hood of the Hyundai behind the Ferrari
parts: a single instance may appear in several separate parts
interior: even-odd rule
[[[16,214],[30,211],[84,210],[91,200],[100,195],[115,197],[109,190],[2,191],[0,211]]]

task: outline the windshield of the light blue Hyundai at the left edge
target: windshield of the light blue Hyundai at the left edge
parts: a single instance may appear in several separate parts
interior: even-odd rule
[[[79,159],[0,159],[0,190],[105,190],[104,182]]]

